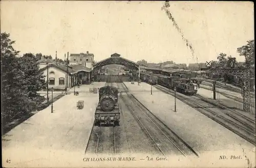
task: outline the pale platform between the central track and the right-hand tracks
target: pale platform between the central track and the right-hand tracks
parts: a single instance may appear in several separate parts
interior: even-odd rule
[[[136,99],[178,134],[198,154],[212,156],[232,151],[250,153],[255,156],[253,145],[240,136],[219,125],[199,111],[176,99],[177,112],[174,111],[174,97],[157,90],[147,83],[125,83]]]

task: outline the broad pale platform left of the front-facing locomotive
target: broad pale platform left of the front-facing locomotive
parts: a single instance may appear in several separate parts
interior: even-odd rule
[[[101,82],[95,85],[101,87],[104,84]],[[57,162],[58,159],[63,161],[65,157],[70,160],[70,157],[75,155],[79,155],[81,161],[93,127],[94,112],[98,103],[98,94],[90,93],[89,87],[89,85],[80,86],[78,90],[88,90],[88,92],[65,95],[53,103],[53,113],[50,105],[3,135],[2,156],[4,160],[11,160],[11,164],[5,163],[5,166],[53,166],[54,164],[50,163],[43,165],[40,163],[51,159]],[[84,101],[84,107],[80,110],[76,107],[79,100]],[[36,160],[38,165],[32,163]]]

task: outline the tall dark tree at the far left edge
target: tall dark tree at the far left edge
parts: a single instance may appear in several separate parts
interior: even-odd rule
[[[26,92],[25,75],[22,64],[16,57],[18,51],[13,49],[10,34],[1,33],[1,76],[2,76],[2,117],[3,123],[10,121],[13,117],[26,112],[28,99],[24,96]]]

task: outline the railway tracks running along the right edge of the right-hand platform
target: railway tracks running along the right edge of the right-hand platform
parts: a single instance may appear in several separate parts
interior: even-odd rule
[[[174,96],[174,91],[163,86],[156,85],[158,90]],[[190,107],[197,109],[205,116],[221,124],[230,131],[241,136],[245,140],[255,145],[255,121],[242,115],[239,112],[231,110],[225,106],[217,105],[214,102],[201,97],[200,95],[186,96],[176,93],[176,98],[186,103]]]

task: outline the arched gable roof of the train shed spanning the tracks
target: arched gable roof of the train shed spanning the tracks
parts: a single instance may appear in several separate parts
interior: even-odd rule
[[[112,54],[110,58],[106,58],[100,62],[97,62],[96,64],[93,65],[93,68],[101,67],[104,65],[110,65],[110,64],[118,64],[118,65],[123,65],[126,67],[135,67],[137,69],[139,68],[139,64],[137,64],[131,60],[122,58],[117,53]]]

